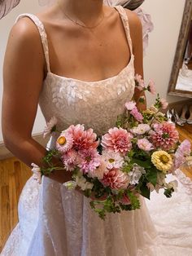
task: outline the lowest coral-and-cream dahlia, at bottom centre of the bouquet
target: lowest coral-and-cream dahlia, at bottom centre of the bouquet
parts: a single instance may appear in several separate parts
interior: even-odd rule
[[[126,189],[129,185],[129,176],[119,169],[111,169],[107,174],[103,175],[101,182],[105,187],[112,189]]]

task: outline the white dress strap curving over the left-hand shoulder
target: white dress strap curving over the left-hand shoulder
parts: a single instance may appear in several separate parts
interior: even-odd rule
[[[20,20],[20,18],[22,18],[22,17],[28,17],[29,19],[31,19],[33,21],[34,24],[36,24],[38,32],[41,37],[41,43],[42,43],[44,55],[46,58],[46,68],[47,68],[47,71],[50,72],[49,47],[48,47],[48,41],[47,41],[46,30],[45,30],[44,25],[42,24],[41,20],[39,20],[39,18],[37,18],[36,15],[29,14],[29,13],[24,13],[24,14],[19,15],[16,18],[15,23],[18,20]]]

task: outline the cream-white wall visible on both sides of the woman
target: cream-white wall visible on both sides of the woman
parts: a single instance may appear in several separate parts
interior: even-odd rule
[[[155,25],[154,31],[150,35],[149,46],[146,49],[144,59],[144,70],[146,82],[152,78],[156,82],[156,89],[159,94],[167,98],[169,102],[180,100],[179,97],[167,97],[168,82],[172,69],[172,62],[177,46],[177,38],[181,25],[181,18],[185,0],[146,0],[142,8],[151,14]],[[8,33],[17,15],[24,12],[36,13],[41,8],[36,2],[31,0],[21,0],[19,7],[2,20],[0,20],[0,95],[2,96],[2,61],[5,52]],[[151,104],[151,97],[148,97],[148,103]],[[1,111],[1,107],[0,107]],[[0,116],[1,117],[1,116]],[[41,132],[44,127],[44,118],[41,112],[37,113],[37,120],[33,127],[33,134]],[[2,131],[0,127],[0,141],[2,140]]]

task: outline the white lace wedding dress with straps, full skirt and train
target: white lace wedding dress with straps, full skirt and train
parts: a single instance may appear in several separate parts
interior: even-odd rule
[[[124,24],[131,50],[129,64],[114,77],[83,82],[50,72],[46,32],[35,15],[48,67],[40,96],[46,121],[57,117],[59,129],[85,124],[101,135],[115,125],[124,103],[133,97],[134,68],[128,17],[116,7]],[[55,139],[49,143],[54,147]],[[43,177],[42,183],[28,179],[20,196],[19,223],[2,256],[186,256],[192,255],[192,185],[185,179],[172,198],[152,193],[140,210],[107,214],[105,221],[91,210],[89,199],[62,184]],[[187,187],[187,189],[185,188]],[[187,193],[188,192],[188,193]],[[155,230],[155,226],[157,232]]]

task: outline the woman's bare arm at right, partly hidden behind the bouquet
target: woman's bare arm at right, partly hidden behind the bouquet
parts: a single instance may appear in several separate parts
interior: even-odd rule
[[[143,48],[142,48],[142,23],[133,11],[126,10],[129,17],[129,28],[133,43],[134,68],[135,74],[143,77]],[[137,102],[137,108],[145,109],[146,104],[141,104],[138,99],[145,96],[145,93],[135,88],[134,99]]]

